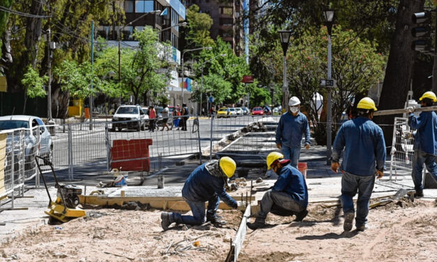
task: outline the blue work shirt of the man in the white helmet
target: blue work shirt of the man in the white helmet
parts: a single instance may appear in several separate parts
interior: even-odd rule
[[[307,116],[298,113],[293,116],[291,112],[282,114],[276,128],[276,144],[300,148],[302,146],[302,134],[305,134],[305,144],[310,144],[309,125]]]

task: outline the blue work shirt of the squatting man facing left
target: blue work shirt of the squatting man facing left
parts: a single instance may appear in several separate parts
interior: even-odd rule
[[[282,167],[281,174],[279,174],[272,190],[286,192],[302,208],[308,206],[307,183],[305,183],[302,173],[291,164]]]

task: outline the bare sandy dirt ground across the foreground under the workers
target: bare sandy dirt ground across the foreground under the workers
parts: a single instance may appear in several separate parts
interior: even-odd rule
[[[247,229],[238,261],[437,261],[437,202],[400,203],[371,209],[369,229],[360,233],[343,232],[335,206],[309,206],[303,222],[269,214],[265,229]],[[23,231],[1,244],[0,261],[224,261],[241,217],[222,211],[225,228],[173,225],[162,231],[160,210],[87,213]]]

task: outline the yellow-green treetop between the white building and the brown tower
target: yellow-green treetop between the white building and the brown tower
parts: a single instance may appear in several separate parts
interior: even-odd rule
[[[214,40],[210,38],[213,19],[206,13],[199,13],[199,6],[192,5],[187,9],[187,26],[185,26],[185,49],[210,47]]]

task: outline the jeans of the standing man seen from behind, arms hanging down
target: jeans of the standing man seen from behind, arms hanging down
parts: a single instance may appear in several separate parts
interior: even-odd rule
[[[358,191],[357,215],[355,225],[362,226],[367,223],[369,214],[369,201],[374,190],[375,176],[355,176],[344,172],[342,176],[342,206],[343,213],[355,213],[353,209],[353,196]]]

